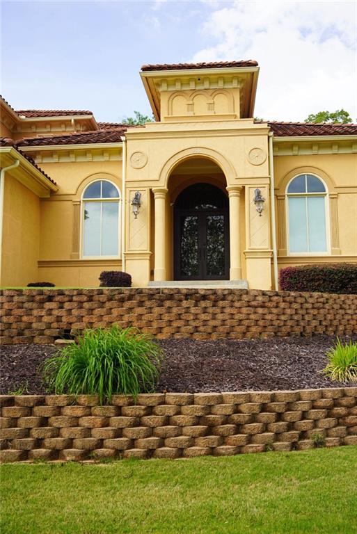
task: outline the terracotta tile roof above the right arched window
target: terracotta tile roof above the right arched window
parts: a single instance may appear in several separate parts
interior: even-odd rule
[[[357,124],[328,124],[327,122],[267,122],[276,137],[357,135]]]

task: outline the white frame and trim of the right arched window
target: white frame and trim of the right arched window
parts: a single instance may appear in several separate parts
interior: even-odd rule
[[[311,175],[315,176],[317,179],[319,179],[322,184],[324,185],[325,191],[319,192],[319,193],[287,193],[287,190],[289,188],[289,185],[292,183],[292,181],[301,175]],[[290,243],[289,243],[289,197],[324,197],[324,206],[325,206],[325,231],[326,231],[326,252],[290,252]],[[296,257],[302,257],[302,256],[330,256],[331,255],[331,229],[330,229],[330,206],[329,206],[329,195],[328,195],[328,187],[324,179],[319,177],[319,175],[316,175],[314,172],[299,172],[299,174],[292,177],[292,179],[289,180],[287,183],[287,186],[285,188],[285,223],[286,223],[286,239],[287,239],[287,256],[296,256]],[[307,200],[306,200],[307,202]],[[308,213],[306,209],[306,213]],[[308,216],[306,215],[306,228],[307,228],[307,234],[308,234]]]

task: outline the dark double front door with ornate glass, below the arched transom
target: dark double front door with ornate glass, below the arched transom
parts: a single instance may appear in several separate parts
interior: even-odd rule
[[[228,280],[226,209],[175,211],[175,280]]]

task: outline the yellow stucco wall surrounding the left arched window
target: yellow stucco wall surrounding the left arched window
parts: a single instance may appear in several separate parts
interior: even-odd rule
[[[58,184],[58,193],[40,202],[40,274],[58,286],[98,286],[102,270],[120,270],[121,258],[81,259],[81,195],[97,179],[113,182],[121,195],[122,161],[45,162],[41,167]]]

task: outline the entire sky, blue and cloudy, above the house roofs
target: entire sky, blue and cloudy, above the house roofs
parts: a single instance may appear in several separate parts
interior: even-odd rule
[[[344,107],[357,117],[351,1],[2,1],[1,34],[1,92],[17,109],[119,121],[150,113],[143,63],[252,58],[255,115],[303,120]]]

